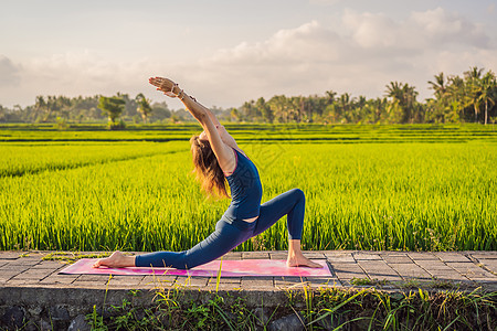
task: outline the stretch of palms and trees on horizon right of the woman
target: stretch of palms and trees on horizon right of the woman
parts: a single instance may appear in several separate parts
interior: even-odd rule
[[[328,90],[324,96],[258,98],[231,110],[234,120],[325,124],[483,122],[497,118],[494,72],[472,67],[463,76],[440,73],[429,82],[433,97],[417,100],[414,86],[391,82],[383,97],[368,99]]]

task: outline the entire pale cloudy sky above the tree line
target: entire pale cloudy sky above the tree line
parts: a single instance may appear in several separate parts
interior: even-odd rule
[[[435,74],[497,72],[497,0],[0,0],[0,105],[135,97],[165,76],[208,107],[274,95],[431,97]]]

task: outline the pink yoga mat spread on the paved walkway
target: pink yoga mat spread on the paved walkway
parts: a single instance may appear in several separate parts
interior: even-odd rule
[[[82,258],[75,264],[64,268],[59,274],[91,274],[91,275],[173,275],[173,276],[193,276],[193,277],[216,277],[221,260],[213,260],[208,264],[180,270],[175,268],[93,268],[94,258]],[[223,260],[221,277],[242,277],[242,276],[296,276],[296,277],[331,277],[326,260],[313,259],[321,265],[321,268],[287,267],[286,260],[279,259],[243,259],[243,260]]]

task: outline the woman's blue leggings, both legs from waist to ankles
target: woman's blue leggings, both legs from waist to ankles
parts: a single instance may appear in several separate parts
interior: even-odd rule
[[[299,189],[285,192],[261,205],[258,218],[252,223],[221,218],[215,231],[204,241],[183,252],[155,252],[138,255],[137,267],[173,267],[190,269],[214,260],[287,215],[288,238],[300,239],[304,226],[305,196]]]

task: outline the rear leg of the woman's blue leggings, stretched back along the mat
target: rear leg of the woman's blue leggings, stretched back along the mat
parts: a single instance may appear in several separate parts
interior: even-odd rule
[[[232,224],[219,221],[215,231],[204,241],[183,252],[155,252],[136,257],[137,267],[173,267],[190,269],[223,256],[241,243],[251,233],[243,232]]]

